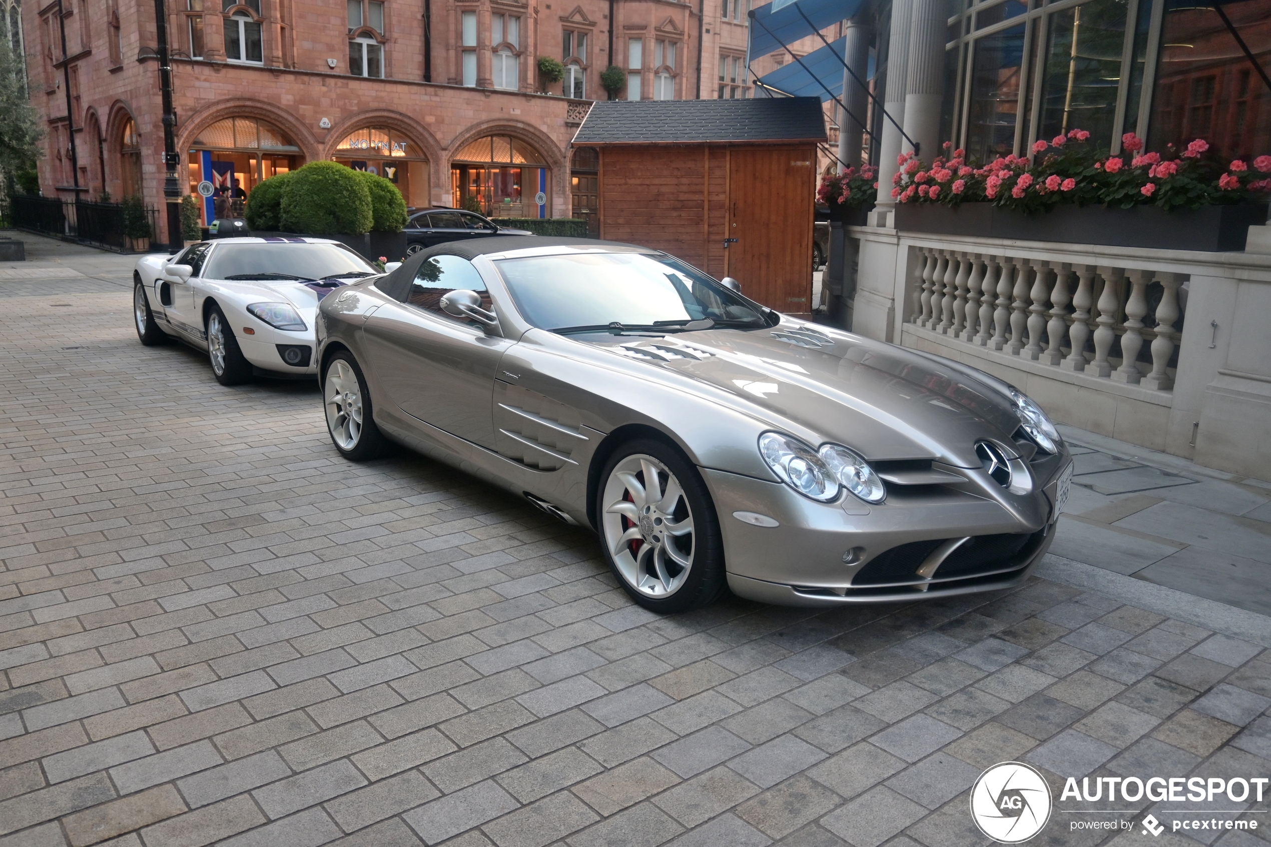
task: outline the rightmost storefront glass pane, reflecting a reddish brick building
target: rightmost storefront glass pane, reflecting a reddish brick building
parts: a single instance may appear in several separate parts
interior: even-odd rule
[[[1266,67],[1271,0],[1234,0],[1223,10]],[[1223,159],[1271,150],[1271,91],[1213,6],[1166,6],[1154,89],[1153,149],[1205,138]]]

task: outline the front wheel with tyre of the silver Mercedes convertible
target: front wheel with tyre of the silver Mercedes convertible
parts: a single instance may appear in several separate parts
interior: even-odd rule
[[[632,599],[653,612],[684,612],[724,592],[714,504],[677,450],[652,439],[623,444],[596,495],[605,559]]]

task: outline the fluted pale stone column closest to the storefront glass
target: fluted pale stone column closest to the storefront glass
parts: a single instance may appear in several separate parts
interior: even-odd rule
[[[927,163],[941,152],[941,98],[944,95],[943,0],[913,0],[909,71],[905,74],[905,135],[919,143]],[[904,147],[909,150],[909,147]]]

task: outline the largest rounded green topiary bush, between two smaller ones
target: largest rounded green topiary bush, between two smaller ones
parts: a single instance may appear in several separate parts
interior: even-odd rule
[[[362,235],[374,222],[366,182],[344,165],[310,161],[282,184],[278,226],[287,232]]]

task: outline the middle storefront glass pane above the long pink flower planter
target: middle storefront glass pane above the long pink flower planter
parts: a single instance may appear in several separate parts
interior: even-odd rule
[[[1038,138],[1069,130],[1111,146],[1121,83],[1126,0],[1092,0],[1050,15]]]

